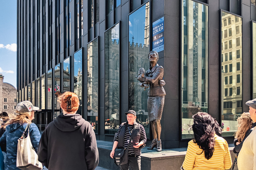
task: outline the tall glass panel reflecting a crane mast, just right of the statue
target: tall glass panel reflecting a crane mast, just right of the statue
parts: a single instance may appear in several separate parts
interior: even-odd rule
[[[208,6],[185,1],[187,5],[182,6],[182,15],[188,21],[187,25],[182,25],[182,40],[186,36],[188,43],[182,42],[181,53],[182,139],[193,138],[193,130],[186,130],[187,125],[193,124],[192,116],[208,112]]]

